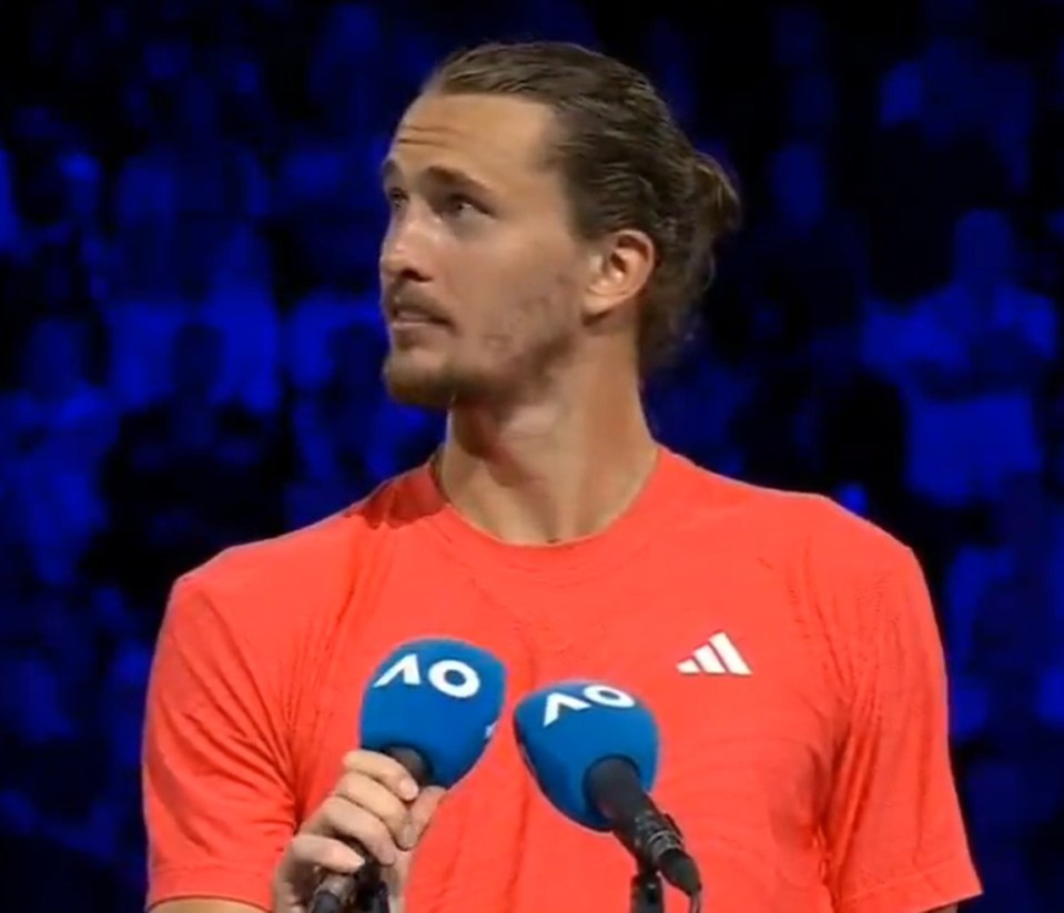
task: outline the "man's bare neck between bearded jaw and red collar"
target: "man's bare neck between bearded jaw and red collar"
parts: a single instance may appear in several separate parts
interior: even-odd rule
[[[452,412],[439,485],[474,526],[520,545],[590,536],[635,500],[657,445],[638,389]],[[611,395],[610,395],[611,394]]]

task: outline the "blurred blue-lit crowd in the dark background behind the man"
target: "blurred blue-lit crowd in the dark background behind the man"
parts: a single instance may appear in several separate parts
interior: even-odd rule
[[[4,3],[3,909],[140,909],[173,578],[432,452],[378,379],[377,166],[442,54],[539,37],[647,69],[747,201],[660,437],[919,551],[973,910],[1064,910],[1064,4],[671,7]]]

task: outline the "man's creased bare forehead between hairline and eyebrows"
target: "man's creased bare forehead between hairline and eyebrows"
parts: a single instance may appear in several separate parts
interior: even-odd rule
[[[389,171],[446,168],[483,180],[543,166],[554,118],[534,101],[501,95],[427,94],[399,121]]]

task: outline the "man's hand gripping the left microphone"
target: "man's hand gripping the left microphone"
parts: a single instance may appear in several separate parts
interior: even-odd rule
[[[419,790],[402,764],[372,751],[347,754],[344,771],[288,844],[274,879],[274,913],[307,913],[323,870],[351,874],[361,869],[366,860],[352,841],[381,863],[393,913],[403,911],[411,851],[444,791]]]

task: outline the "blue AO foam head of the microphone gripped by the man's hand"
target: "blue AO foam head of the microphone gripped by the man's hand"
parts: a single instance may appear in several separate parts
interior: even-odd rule
[[[480,760],[503,712],[506,670],[460,640],[405,643],[373,673],[362,701],[362,747],[413,749],[449,789]]]

